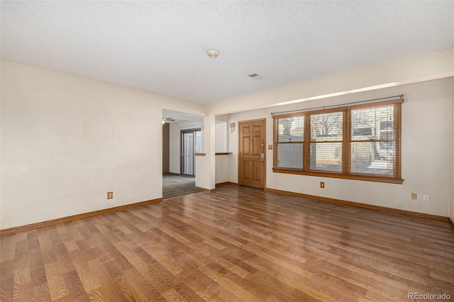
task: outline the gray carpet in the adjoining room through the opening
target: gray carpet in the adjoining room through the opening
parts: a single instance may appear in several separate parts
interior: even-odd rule
[[[196,189],[196,179],[194,177],[182,177],[178,174],[162,175],[162,198],[171,198],[201,192]]]

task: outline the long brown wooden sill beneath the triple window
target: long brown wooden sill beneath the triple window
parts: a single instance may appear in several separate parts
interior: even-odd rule
[[[404,182],[404,179],[400,179],[397,177],[386,177],[386,176],[380,176],[380,175],[343,174],[343,173],[336,173],[336,172],[313,172],[313,171],[301,171],[301,170],[282,169],[282,168],[273,168],[272,172],[284,173],[284,174],[299,174],[299,175],[307,175],[307,176],[314,176],[314,177],[331,177],[331,178],[340,178],[340,179],[386,182],[388,184],[402,184]]]

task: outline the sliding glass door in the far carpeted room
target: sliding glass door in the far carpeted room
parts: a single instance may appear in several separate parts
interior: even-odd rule
[[[195,177],[195,154],[202,152],[201,129],[181,130],[181,174]]]

